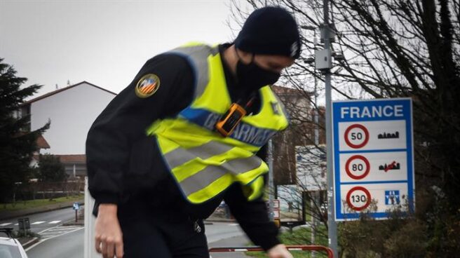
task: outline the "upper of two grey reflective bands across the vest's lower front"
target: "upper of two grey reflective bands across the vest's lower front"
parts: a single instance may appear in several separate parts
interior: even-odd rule
[[[223,154],[234,147],[228,144],[223,144],[220,142],[210,141],[201,146],[184,149],[177,148],[173,151],[165,154],[165,160],[168,162],[170,169],[182,165],[188,161],[191,161],[194,158],[207,159],[212,156]]]

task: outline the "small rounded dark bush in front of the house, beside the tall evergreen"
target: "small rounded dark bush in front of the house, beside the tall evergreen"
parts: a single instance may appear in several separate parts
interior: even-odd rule
[[[57,156],[40,154],[37,178],[41,182],[62,182],[67,179],[64,165]]]

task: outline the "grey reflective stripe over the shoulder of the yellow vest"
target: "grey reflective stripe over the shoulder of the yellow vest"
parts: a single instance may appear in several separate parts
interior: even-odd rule
[[[215,48],[211,48],[210,46],[206,45],[187,46],[175,48],[170,50],[169,53],[185,55],[189,62],[191,62],[196,77],[194,99],[201,96],[205,90],[205,87],[209,83],[210,74],[208,56],[217,55],[217,53],[219,53],[219,48],[217,46]]]

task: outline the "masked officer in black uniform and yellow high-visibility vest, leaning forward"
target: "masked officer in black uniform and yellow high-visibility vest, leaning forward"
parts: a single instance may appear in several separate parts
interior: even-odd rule
[[[97,252],[209,257],[203,219],[224,200],[269,257],[292,257],[269,221],[260,157],[288,126],[270,86],[299,54],[294,18],[266,7],[234,43],[189,43],[148,60],[88,133]]]

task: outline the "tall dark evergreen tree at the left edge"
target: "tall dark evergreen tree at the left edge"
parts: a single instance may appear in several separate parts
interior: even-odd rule
[[[0,58],[0,202],[13,196],[15,182],[26,182],[32,169],[29,163],[37,150],[36,139],[50,122],[32,132],[25,130],[29,115],[17,117],[25,98],[34,95],[41,86],[21,87],[26,78],[16,76],[16,71]]]

